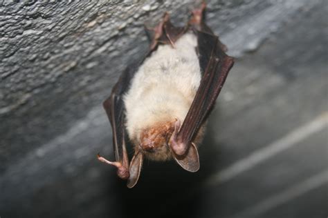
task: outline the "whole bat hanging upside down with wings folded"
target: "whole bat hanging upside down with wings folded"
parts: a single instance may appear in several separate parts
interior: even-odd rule
[[[203,21],[205,3],[192,11],[184,27],[172,25],[167,13],[153,29],[149,52],[129,66],[103,106],[113,130],[118,177],[132,188],[143,159],[174,159],[190,172],[199,170],[197,145],[233,58]],[[134,145],[129,163],[126,139]]]

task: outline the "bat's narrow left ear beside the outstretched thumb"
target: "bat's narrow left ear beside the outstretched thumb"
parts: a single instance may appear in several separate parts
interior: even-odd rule
[[[131,160],[129,168],[130,177],[129,179],[127,179],[128,188],[133,188],[136,185],[139,179],[141,166],[143,166],[143,153],[136,152],[136,154],[134,154],[134,157]]]

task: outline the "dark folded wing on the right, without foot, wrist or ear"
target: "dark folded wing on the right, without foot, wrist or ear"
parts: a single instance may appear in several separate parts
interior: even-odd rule
[[[194,97],[192,106],[183,121],[177,138],[181,143],[190,144],[221,91],[230,68],[233,67],[233,58],[222,50],[222,43],[218,37],[210,32],[195,31],[198,37],[199,64],[203,77]]]

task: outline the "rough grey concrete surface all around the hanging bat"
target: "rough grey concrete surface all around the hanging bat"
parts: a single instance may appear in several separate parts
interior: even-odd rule
[[[208,1],[237,57],[201,170],[146,161],[129,190],[101,103],[144,24],[199,1],[0,1],[0,217],[327,217],[325,0]]]

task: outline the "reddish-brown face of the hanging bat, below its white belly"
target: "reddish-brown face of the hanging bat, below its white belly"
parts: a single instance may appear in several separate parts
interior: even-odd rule
[[[170,148],[167,146],[174,131],[174,121],[159,122],[145,128],[140,133],[139,148],[146,157],[163,161],[171,158]]]

